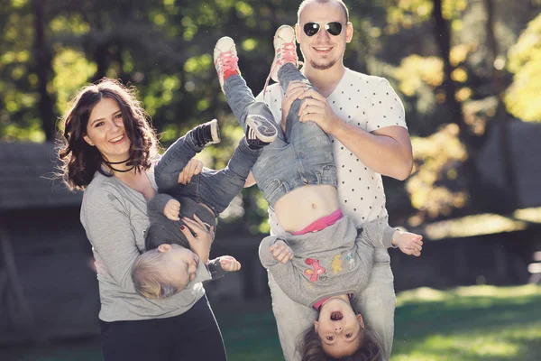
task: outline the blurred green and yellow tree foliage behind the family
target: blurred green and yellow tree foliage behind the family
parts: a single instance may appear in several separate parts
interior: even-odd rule
[[[463,167],[481,146],[503,95],[501,106],[514,116],[541,119],[535,98],[541,17],[532,20],[539,2],[346,4],[355,32],[345,65],[390,79],[414,136],[416,171],[406,189],[388,186],[388,193],[408,196],[412,207],[391,217],[414,216],[418,223],[468,208],[472,180]],[[234,38],[243,77],[258,93],[271,66],[273,32],[296,23],[297,7],[286,0],[0,0],[0,139],[53,140],[54,120],[69,97],[107,76],[138,88],[164,146],[189,127],[219,118],[225,141],[202,157],[207,165],[224,166],[242,132],[219,90],[214,44],[221,36]],[[436,11],[449,32],[448,55]],[[444,144],[450,148],[434,151]],[[250,209],[240,216],[243,223],[266,231],[260,193],[247,190],[243,203]]]

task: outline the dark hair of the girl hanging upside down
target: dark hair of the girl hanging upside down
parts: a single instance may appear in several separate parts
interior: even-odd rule
[[[356,315],[360,313],[354,308],[353,312]],[[383,361],[383,346],[376,332],[370,326],[365,326],[360,332],[361,343],[353,355],[335,358],[325,353],[321,338],[319,338],[316,329],[312,325],[298,339],[298,350],[300,356],[302,356],[301,359],[302,361]]]

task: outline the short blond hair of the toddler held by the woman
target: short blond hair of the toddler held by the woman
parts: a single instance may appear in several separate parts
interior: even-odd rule
[[[165,299],[177,292],[177,286],[166,281],[160,264],[163,254],[151,249],[137,257],[132,267],[132,281],[135,291],[147,299]]]

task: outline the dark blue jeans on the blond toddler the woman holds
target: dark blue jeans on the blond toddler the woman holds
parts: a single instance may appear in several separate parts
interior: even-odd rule
[[[234,150],[227,166],[221,171],[204,169],[192,177],[187,185],[179,184],[179,173],[186,164],[203,148],[197,147],[191,131],[172,143],[161,156],[154,168],[154,177],[160,193],[172,197],[188,197],[203,203],[215,212],[217,217],[229,203],[243,190],[253,164],[261,154],[261,149],[252,150],[246,139]]]

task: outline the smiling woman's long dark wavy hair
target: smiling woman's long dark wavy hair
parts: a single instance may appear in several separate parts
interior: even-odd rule
[[[115,100],[120,106],[124,130],[132,143],[130,160],[126,165],[135,166],[136,171],[151,168],[151,162],[158,155],[158,140],[151,127],[150,116],[135,97],[136,92],[135,88],[126,88],[117,80],[104,78],[81,88],[71,99],[68,111],[60,120],[63,139],[57,146],[60,160],[57,175],[69,190],[84,190],[96,171],[107,177],[113,176],[102,169],[101,153],[83,138],[87,134],[92,109],[105,97]]]

